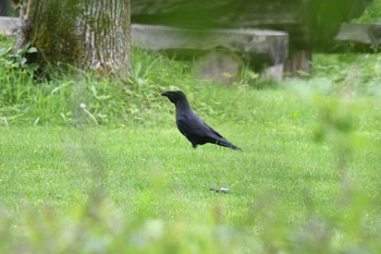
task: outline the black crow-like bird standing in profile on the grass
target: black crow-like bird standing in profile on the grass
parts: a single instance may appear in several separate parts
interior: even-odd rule
[[[161,95],[168,97],[176,107],[176,125],[180,132],[192,143],[194,148],[198,145],[211,143],[235,150],[242,150],[197,117],[193,112],[183,92],[164,92]]]

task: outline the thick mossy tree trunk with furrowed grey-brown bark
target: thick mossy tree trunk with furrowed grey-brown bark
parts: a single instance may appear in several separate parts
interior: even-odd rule
[[[38,50],[34,61],[127,75],[130,0],[23,0],[16,48]]]

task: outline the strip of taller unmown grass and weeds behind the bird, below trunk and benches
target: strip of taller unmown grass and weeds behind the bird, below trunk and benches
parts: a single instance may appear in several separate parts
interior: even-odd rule
[[[34,52],[33,48],[25,48],[14,57],[8,49],[10,39],[2,38],[1,44],[1,125],[165,124],[163,119],[171,112],[160,94],[168,89],[184,90],[190,104],[204,116],[239,121],[253,113],[239,102],[239,96],[266,89],[266,83],[260,85],[258,75],[250,70],[245,71],[236,84],[224,87],[195,80],[188,62],[136,48],[133,49],[133,69],[127,82],[111,81],[70,66],[70,74],[52,70],[49,78],[41,80],[34,75],[38,66],[24,62],[23,53]],[[314,72],[308,81],[287,80],[272,85],[271,89],[302,84],[327,95],[380,95],[379,55],[316,55],[314,60]],[[237,96],[229,89],[237,90]],[[237,113],[237,108],[245,113]],[[78,118],[81,114],[87,118]]]

